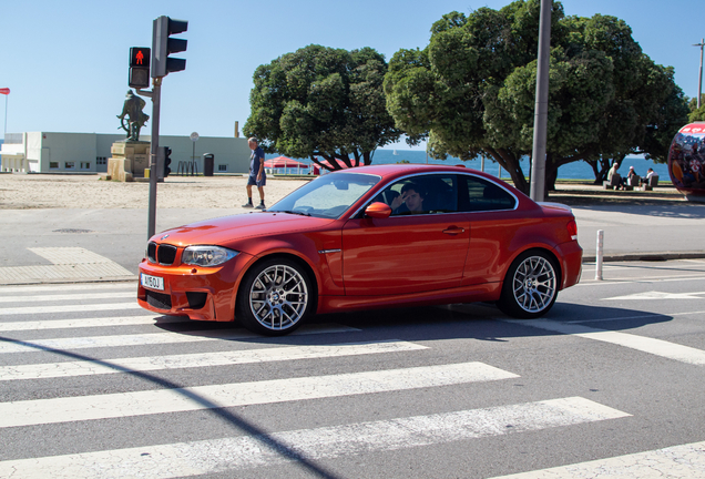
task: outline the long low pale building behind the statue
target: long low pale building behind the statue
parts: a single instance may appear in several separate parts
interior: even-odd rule
[[[124,134],[104,133],[7,133],[1,145],[2,172],[23,173],[105,173],[110,149]],[[150,135],[141,135],[150,141]],[[214,155],[214,173],[247,173],[249,146],[244,137],[201,136],[192,142],[188,136],[160,135],[160,146],[172,149],[172,173],[180,162],[195,161],[203,173],[203,155]]]

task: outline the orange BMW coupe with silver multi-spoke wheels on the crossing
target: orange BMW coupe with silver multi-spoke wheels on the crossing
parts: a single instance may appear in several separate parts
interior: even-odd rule
[[[270,336],[314,314],[410,305],[495,302],[533,318],[578,283],[581,263],[568,206],[466,167],[362,166],[264,212],[154,235],[137,302]]]

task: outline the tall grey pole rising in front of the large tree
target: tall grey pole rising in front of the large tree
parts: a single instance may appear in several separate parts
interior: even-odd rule
[[[540,202],[545,194],[545,145],[549,123],[549,60],[551,58],[551,0],[541,0],[539,22],[539,62],[537,67],[537,104],[531,151],[531,200]]]

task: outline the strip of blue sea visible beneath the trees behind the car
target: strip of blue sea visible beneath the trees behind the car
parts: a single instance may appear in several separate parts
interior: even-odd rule
[[[278,154],[267,154],[266,159],[276,157]],[[305,163],[309,163],[307,160],[302,160]],[[408,161],[409,163],[429,163],[429,164],[464,164],[467,167],[471,167],[474,170],[482,170],[482,161],[478,157],[476,160],[463,162],[457,157],[448,157],[448,160],[433,160],[431,157],[426,156],[426,152],[418,150],[377,150],[375,155],[372,156],[372,164],[394,164],[400,163],[402,161]],[[660,176],[660,180],[668,180],[668,169],[666,164],[663,163],[654,163],[651,160],[644,160],[638,156],[627,156],[622,162],[622,166],[619,170],[623,176],[630,171],[630,166],[634,166],[636,174],[640,176],[646,175],[646,170],[650,167],[654,169],[654,172]],[[521,167],[524,171],[524,174],[529,176],[530,164],[529,160],[525,159],[521,162]],[[490,160],[484,161],[484,171],[489,174],[493,174],[494,176],[500,175],[500,166],[498,163],[494,163]],[[279,170],[279,173],[285,173],[284,170]],[[287,170],[286,173],[295,174],[296,170]],[[307,173],[306,170],[302,170],[302,173]],[[504,180],[509,180],[509,174],[505,170],[502,170],[501,176]],[[593,181],[595,175],[592,172],[592,167],[585,162],[574,162],[566,165],[563,165],[559,169],[559,180],[588,180]]]

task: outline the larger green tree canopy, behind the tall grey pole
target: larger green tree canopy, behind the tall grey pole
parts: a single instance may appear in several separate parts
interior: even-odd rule
[[[423,50],[395,53],[385,92],[397,126],[412,141],[430,135],[436,157],[486,154],[528,192],[520,159],[533,142],[539,17],[539,0],[451,12],[433,23]],[[645,55],[624,21],[565,17],[553,2],[548,187],[574,161],[596,175],[601,159],[640,152],[665,161],[687,112],[673,69]]]

